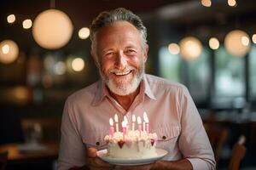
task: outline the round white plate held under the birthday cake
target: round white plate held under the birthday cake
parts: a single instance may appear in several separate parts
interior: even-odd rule
[[[103,161],[108,161],[110,164],[123,165],[123,166],[135,166],[144,165],[157,160],[160,160],[168,153],[166,150],[156,149],[157,156],[147,157],[147,158],[113,158],[107,156],[107,150],[97,151],[97,156],[99,156]]]

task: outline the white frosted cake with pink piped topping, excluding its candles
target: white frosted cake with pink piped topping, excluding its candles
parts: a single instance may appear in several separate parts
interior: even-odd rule
[[[105,136],[108,143],[108,156],[118,158],[146,158],[157,156],[155,152],[155,143],[157,141],[156,133],[145,133],[129,131],[124,138],[123,133],[113,133]]]

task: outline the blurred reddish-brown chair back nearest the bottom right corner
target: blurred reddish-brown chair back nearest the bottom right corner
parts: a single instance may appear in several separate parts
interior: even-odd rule
[[[245,141],[245,136],[241,135],[240,138],[238,139],[238,142],[234,145],[228,170],[239,169],[241,160],[244,158],[246,154],[246,147],[244,146]]]

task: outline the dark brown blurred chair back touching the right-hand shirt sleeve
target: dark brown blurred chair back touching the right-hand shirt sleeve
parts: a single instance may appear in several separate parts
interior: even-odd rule
[[[218,165],[219,156],[221,155],[221,152],[223,150],[224,143],[228,139],[229,132],[224,127],[216,127],[212,124],[210,125],[205,123],[204,127],[206,128],[208,138],[212,145],[216,165]]]

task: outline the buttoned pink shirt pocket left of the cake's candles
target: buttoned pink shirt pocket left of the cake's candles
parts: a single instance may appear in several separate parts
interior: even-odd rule
[[[107,143],[104,140],[107,134],[108,131],[105,129],[89,131],[84,136],[83,142],[87,148],[93,147],[97,150],[103,150],[107,148]]]

